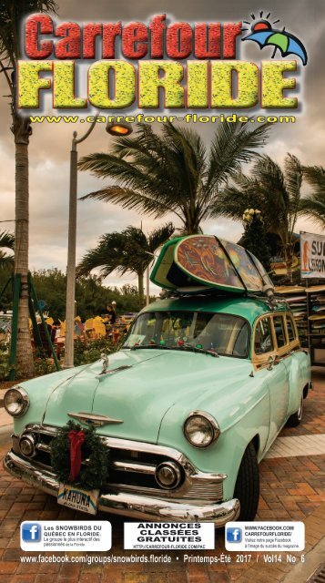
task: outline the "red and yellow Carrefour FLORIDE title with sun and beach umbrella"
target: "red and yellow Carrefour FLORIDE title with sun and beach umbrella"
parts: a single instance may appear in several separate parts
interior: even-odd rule
[[[30,15],[23,27],[25,59],[18,61],[17,106],[25,113],[41,110],[42,95],[51,92],[53,108],[70,110],[296,108],[291,92],[297,90],[297,61],[274,56],[299,56],[306,65],[305,47],[284,28],[273,28],[278,21],[259,15],[251,15],[250,34],[241,38],[261,49],[274,46],[259,65],[239,59],[237,41],[247,30],[242,22],[192,26],[169,23],[163,14],[148,25],[56,24],[49,15]],[[86,95],[76,84],[82,75]]]

